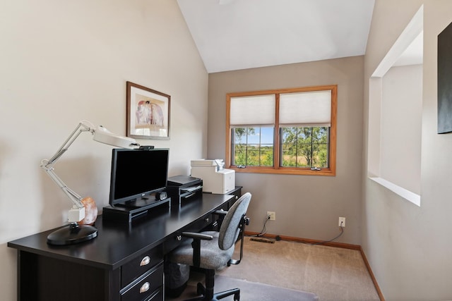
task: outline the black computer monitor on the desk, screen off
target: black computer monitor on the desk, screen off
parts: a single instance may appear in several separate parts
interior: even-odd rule
[[[169,149],[113,149],[109,204],[145,198],[164,190]]]

